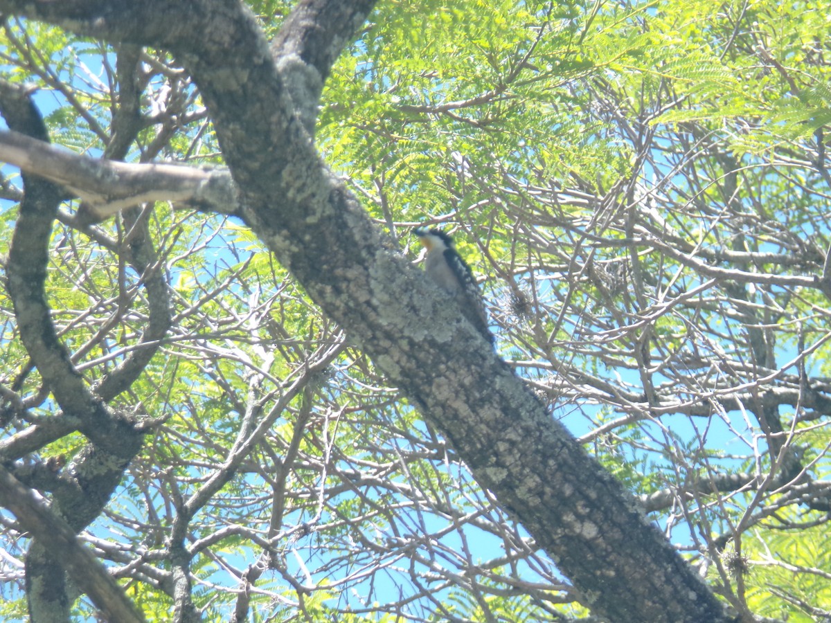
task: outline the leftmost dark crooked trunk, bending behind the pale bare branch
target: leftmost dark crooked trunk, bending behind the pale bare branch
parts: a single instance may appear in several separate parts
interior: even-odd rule
[[[46,140],[46,127],[29,96],[25,89],[0,82],[0,109],[9,127]],[[23,173],[22,179],[24,195],[8,256],[7,287],[23,346],[61,410],[77,419],[79,429],[91,440],[67,468],[67,486],[52,496],[52,512],[80,531],[101,513],[124,468],[139,451],[143,434],[130,419],[92,395],[57,336],[47,303],[46,279],[48,246],[61,192],[37,176]],[[26,575],[34,620],[57,613],[68,618],[65,573],[58,561],[47,542],[37,538],[32,542]]]

